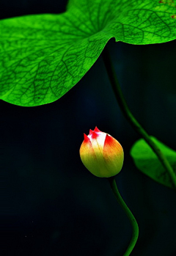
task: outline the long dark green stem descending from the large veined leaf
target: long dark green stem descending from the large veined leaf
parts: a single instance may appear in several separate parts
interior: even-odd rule
[[[110,57],[107,46],[103,49],[102,56],[103,56],[104,64],[106,66],[107,73],[109,75],[109,80],[111,82],[112,89],[114,90],[115,97],[117,98],[117,102],[119,103],[122,113],[124,114],[128,122],[131,123],[133,129],[144,138],[144,140],[147,142],[148,145],[150,145],[150,147],[152,148],[156,156],[158,156],[159,161],[161,161],[161,164],[169,173],[170,178],[172,179],[172,183],[176,189],[176,176],[171,165],[169,164],[169,161],[167,161],[166,157],[161,152],[161,150],[157,147],[157,145],[155,145],[153,140],[150,139],[150,136],[147,134],[146,131],[144,131],[144,128],[142,128],[142,125],[140,125],[139,122],[136,120],[136,118],[133,117],[133,114],[131,114],[131,111],[128,108],[128,105],[125,102],[125,98],[122,95],[122,90],[120,89],[120,84],[117,80],[117,76],[114,70],[114,66],[111,62],[111,57]]]

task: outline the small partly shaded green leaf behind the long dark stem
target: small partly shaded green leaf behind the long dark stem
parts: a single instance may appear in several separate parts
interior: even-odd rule
[[[167,158],[176,173],[176,151],[159,142],[155,137],[151,136],[150,138],[155,142],[158,148],[160,148],[161,152],[164,153],[164,156]],[[131,147],[131,156],[136,167],[141,172],[158,183],[175,189],[172,185],[172,180],[168,172],[164,169],[161,162],[158,160],[158,157],[153,153],[153,150],[149,145],[147,145],[147,142],[145,142],[144,139],[139,139],[134,143],[133,147]]]

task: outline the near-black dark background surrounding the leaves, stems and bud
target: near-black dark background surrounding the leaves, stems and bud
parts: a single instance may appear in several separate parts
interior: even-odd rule
[[[67,1],[0,0],[0,18],[65,11]],[[1,32],[0,32],[1,33]],[[175,41],[109,42],[128,105],[147,132],[176,150]],[[131,224],[106,179],[79,157],[83,133],[95,125],[125,151],[117,185],[139,223],[131,255],[176,255],[176,194],[139,172],[129,150],[139,135],[122,116],[103,59],[54,103],[21,107],[1,100],[1,255],[115,256]]]

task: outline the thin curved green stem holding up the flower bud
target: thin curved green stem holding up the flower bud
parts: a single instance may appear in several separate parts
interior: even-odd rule
[[[122,200],[120,192],[117,189],[117,184],[116,184],[115,178],[114,177],[110,177],[110,178],[107,178],[107,179],[109,180],[109,183],[110,183],[110,186],[111,186],[111,190],[113,191],[113,193],[114,193],[114,195],[115,195],[115,197],[117,199],[117,202],[119,202],[119,204],[122,207],[123,211],[125,211],[126,215],[128,216],[128,219],[130,220],[131,225],[133,227],[133,234],[132,234],[131,242],[128,245],[128,248],[126,249],[126,251],[125,251],[125,253],[123,255],[123,256],[128,256],[128,255],[131,254],[131,252],[133,250],[133,247],[135,246],[136,241],[138,239],[139,227],[138,227],[138,224],[136,222],[136,219],[133,216],[133,213],[131,213],[130,209],[125,204],[124,200]]]

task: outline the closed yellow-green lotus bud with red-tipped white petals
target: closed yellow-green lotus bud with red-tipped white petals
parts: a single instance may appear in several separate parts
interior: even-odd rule
[[[80,150],[84,166],[97,177],[109,178],[122,169],[124,154],[122,146],[111,135],[103,133],[97,127],[84,134]]]

